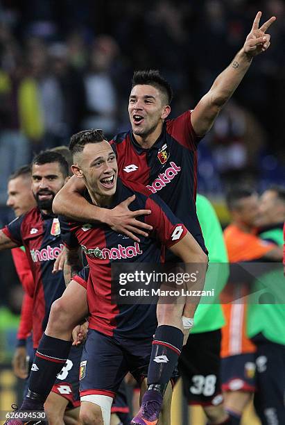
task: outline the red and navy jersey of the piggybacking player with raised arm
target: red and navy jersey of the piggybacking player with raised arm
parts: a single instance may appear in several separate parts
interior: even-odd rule
[[[150,149],[141,148],[132,131],[116,135],[111,144],[117,154],[119,176],[158,194],[207,252],[196,214],[199,141],[188,110],[164,122],[162,134]]]

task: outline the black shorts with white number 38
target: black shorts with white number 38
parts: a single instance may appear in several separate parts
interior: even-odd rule
[[[218,406],[221,394],[221,330],[189,335],[178,360],[183,390],[189,404]]]

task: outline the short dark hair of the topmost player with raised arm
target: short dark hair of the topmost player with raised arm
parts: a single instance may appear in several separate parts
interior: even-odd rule
[[[166,79],[159,74],[157,69],[148,69],[144,71],[135,71],[132,76],[132,88],[135,85],[153,85],[166,95],[168,104],[170,105],[173,99],[173,91],[171,85]]]

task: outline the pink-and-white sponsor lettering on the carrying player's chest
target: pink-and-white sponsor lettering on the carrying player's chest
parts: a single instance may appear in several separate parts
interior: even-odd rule
[[[95,249],[88,249],[84,245],[81,245],[83,252],[91,257],[91,258],[100,258],[101,260],[121,260],[122,258],[133,258],[139,256],[142,251],[139,248],[139,244],[135,242],[134,247],[123,247],[121,244],[118,245],[117,248],[103,248],[99,249],[96,247]]]

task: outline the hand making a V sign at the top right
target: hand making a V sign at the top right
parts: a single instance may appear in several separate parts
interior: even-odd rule
[[[261,12],[257,12],[257,16],[254,18],[254,22],[252,24],[252,29],[245,40],[245,44],[243,45],[243,51],[249,58],[259,55],[259,53],[266,51],[270,46],[270,35],[266,34],[266,31],[270,25],[275,22],[276,17],[270,17],[270,19],[264,22],[264,24],[259,28],[261,15]]]

